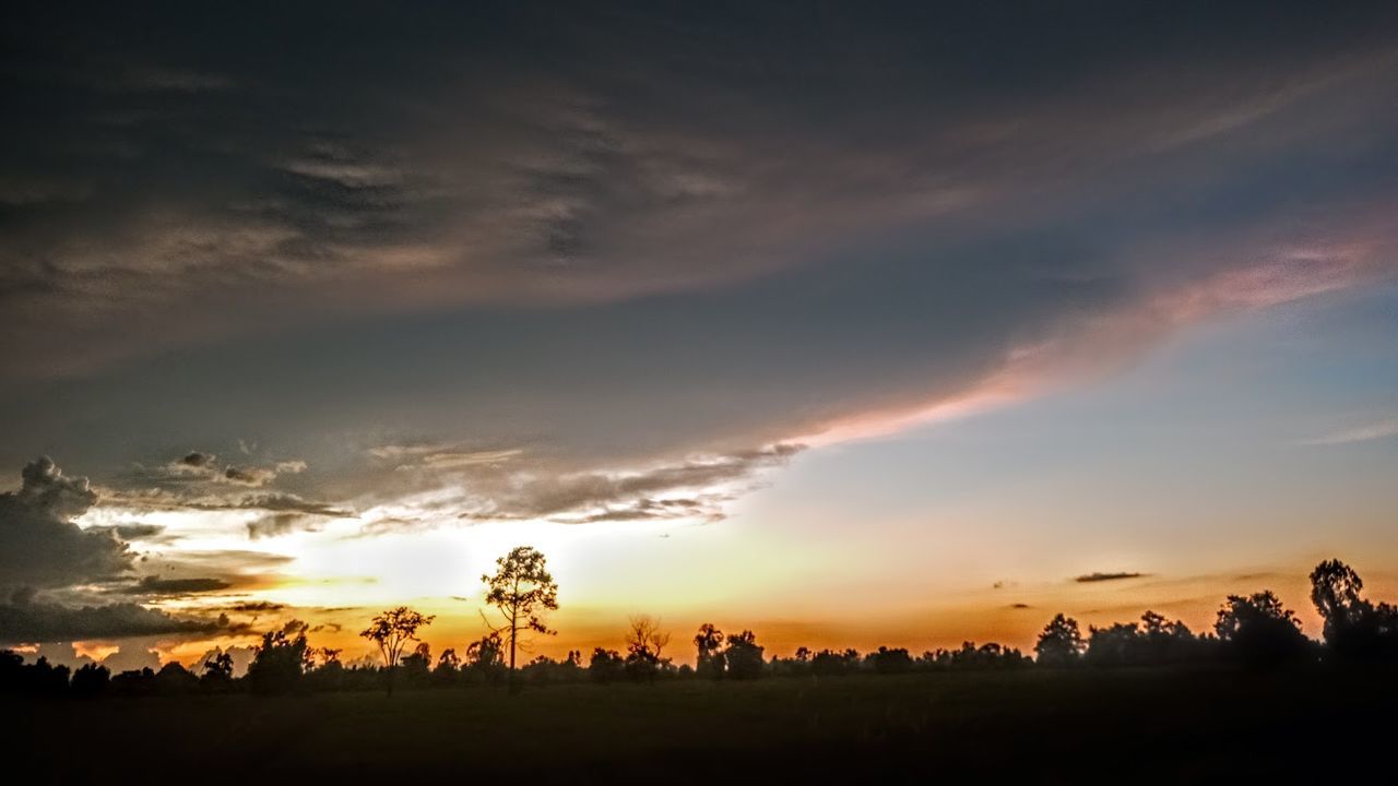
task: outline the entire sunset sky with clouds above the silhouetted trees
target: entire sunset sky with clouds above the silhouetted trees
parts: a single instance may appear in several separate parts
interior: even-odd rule
[[[0,645],[1398,596],[1391,4],[587,6],[7,6]]]

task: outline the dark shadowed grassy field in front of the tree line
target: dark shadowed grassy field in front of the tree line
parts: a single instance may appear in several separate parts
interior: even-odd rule
[[[1398,671],[10,703],[13,783],[1398,782]],[[324,779],[324,780],[322,780]]]

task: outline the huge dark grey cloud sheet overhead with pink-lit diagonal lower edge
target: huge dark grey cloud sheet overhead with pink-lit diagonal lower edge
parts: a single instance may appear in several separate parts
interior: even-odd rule
[[[713,512],[693,455],[1394,274],[1391,7],[275,17],[6,25],[0,459],[257,438],[336,509]]]

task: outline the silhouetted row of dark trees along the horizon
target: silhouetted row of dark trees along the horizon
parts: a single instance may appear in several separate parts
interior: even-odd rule
[[[101,664],[77,671],[39,657],[24,663],[0,650],[0,692],[89,698],[194,692],[288,694],[315,691],[429,689],[464,685],[552,683],[654,683],[657,680],[756,680],[763,677],[839,677],[1007,669],[1121,667],[1335,667],[1398,662],[1398,607],[1363,597],[1363,580],[1338,559],[1327,559],[1310,575],[1311,603],[1324,620],[1323,641],[1307,638],[1296,614],[1271,590],[1227,596],[1213,629],[1195,634],[1184,622],[1146,611],[1138,621],[1116,622],[1086,632],[1076,620],[1057,614],[1039,634],[1033,656],[998,643],[965,642],[956,649],[913,655],[905,648],[860,653],[854,649],[814,652],[798,648],[790,657],[766,657],[756,634],[724,634],[712,624],[692,639],[695,666],[675,664],[670,634],[657,618],[633,617],[622,649],[596,648],[586,659],[570,650],[563,659],[537,656],[519,663],[521,636],[552,635],[544,614],[558,608],[558,586],[544,555],[519,547],[496,561],[496,572],[481,578],[495,617],[482,614],[488,632],[459,652],[435,659],[418,639],[432,615],[408,607],[377,614],[361,632],[379,650],[380,666],[350,666],[340,650],[313,648],[306,625],[288,625],[263,635],[242,677],[233,676],[228,653],[217,653],[197,671],[166,663],[112,676]]]

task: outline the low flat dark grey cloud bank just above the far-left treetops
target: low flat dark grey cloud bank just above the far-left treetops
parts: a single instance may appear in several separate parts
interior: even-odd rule
[[[134,603],[70,608],[27,596],[0,604],[0,642],[73,642],[157,635],[206,635],[228,631],[219,620],[180,618]]]

